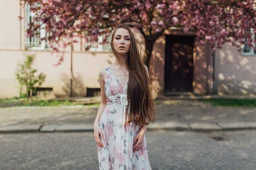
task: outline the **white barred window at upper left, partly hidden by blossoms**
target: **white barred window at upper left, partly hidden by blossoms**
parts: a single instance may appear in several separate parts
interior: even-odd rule
[[[28,24],[32,22],[33,17],[35,16],[35,13],[30,11],[29,4],[26,3],[25,8],[25,22],[26,22],[26,29],[28,29]],[[38,24],[41,24],[38,23]],[[46,32],[44,29],[44,25],[41,26],[38,30],[34,31],[33,37],[25,37],[25,46],[27,49],[32,50],[45,50],[49,48],[49,44],[47,42],[47,37],[49,36],[49,33]],[[41,38],[46,38],[46,40],[41,40]]]

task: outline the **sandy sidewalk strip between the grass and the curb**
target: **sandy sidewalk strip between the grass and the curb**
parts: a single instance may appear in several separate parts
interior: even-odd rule
[[[156,122],[256,122],[256,108],[221,107],[192,100],[155,102]],[[0,126],[93,124],[98,108],[0,109]]]

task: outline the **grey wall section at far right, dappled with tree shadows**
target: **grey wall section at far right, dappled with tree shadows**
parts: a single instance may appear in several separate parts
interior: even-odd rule
[[[215,93],[256,95],[256,56],[243,56],[230,43],[216,50]]]

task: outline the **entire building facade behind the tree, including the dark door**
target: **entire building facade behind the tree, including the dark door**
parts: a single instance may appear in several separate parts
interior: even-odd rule
[[[15,71],[17,63],[23,62],[26,54],[35,54],[33,68],[46,74],[38,95],[69,97],[71,66],[74,76],[72,96],[99,94],[99,70],[115,61],[110,45],[96,44],[86,51],[87,44],[79,40],[73,51],[65,49],[64,62],[54,66],[58,58],[52,54],[47,42],[39,43],[36,37],[25,36],[33,14],[29,8],[20,7],[20,2],[0,1],[0,98],[19,96]],[[20,21],[18,16],[24,19]],[[145,49],[140,31],[132,30]],[[49,35],[41,29],[40,36]],[[164,32],[154,43],[149,72],[157,92],[165,95],[256,94],[256,51],[245,46],[239,52],[227,43],[213,55],[207,43],[198,45],[193,32]],[[157,92],[153,93],[155,97]]]

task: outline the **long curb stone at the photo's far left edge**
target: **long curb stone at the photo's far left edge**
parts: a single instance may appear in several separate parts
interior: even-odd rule
[[[10,125],[0,127],[0,133],[38,132],[41,125]]]

